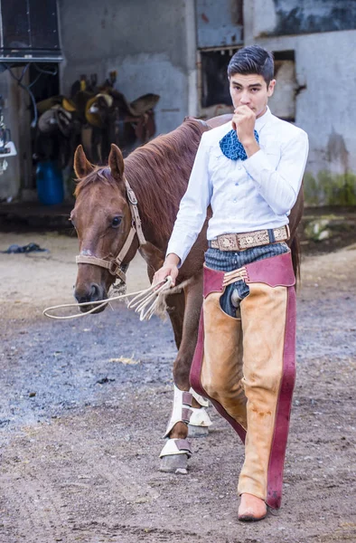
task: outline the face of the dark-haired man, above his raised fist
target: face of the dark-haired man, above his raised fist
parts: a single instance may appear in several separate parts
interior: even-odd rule
[[[256,117],[261,117],[266,112],[267,101],[273,94],[276,80],[272,80],[267,87],[262,75],[241,75],[235,73],[230,76],[230,95],[234,108],[248,106]]]

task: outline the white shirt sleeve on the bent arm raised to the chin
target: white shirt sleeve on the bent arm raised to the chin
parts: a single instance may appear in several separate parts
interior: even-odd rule
[[[300,130],[281,149],[278,166],[273,167],[267,154],[260,149],[243,162],[243,165],[258,188],[259,194],[278,214],[288,213],[299,193],[308,156],[308,137]]]

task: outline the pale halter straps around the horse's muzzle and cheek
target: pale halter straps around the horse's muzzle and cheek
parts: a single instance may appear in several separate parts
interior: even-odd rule
[[[137,198],[132,190],[131,186],[129,185],[126,176],[123,176],[125,186],[126,186],[126,196],[128,205],[131,212],[131,228],[130,232],[128,233],[126,237],[126,241],[124,245],[121,248],[121,251],[117,254],[117,258],[111,259],[111,260],[105,260],[103,258],[98,258],[98,256],[84,256],[83,254],[79,254],[76,256],[75,261],[77,264],[93,264],[95,266],[100,266],[101,268],[105,268],[108,270],[111,275],[114,275],[115,277],[118,277],[121,281],[126,283],[126,274],[123,268],[125,264],[123,264],[123,260],[126,257],[127,252],[129,251],[132,242],[134,241],[135,235],[138,238],[139,245],[145,245],[145,235],[142,230],[142,224],[140,215],[138,213],[137,209]]]

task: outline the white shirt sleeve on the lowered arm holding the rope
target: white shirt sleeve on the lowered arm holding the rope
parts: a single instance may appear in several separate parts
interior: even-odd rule
[[[211,179],[209,175],[209,150],[205,134],[201,136],[188,188],[183,195],[173,233],[167,247],[167,254],[174,252],[179,256],[181,267],[192,245],[201,232],[207,208],[211,201]]]

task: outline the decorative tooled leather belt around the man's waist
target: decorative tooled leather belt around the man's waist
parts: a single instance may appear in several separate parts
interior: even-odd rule
[[[257,230],[256,232],[224,233],[218,235],[216,240],[211,240],[209,247],[220,249],[220,251],[245,251],[259,245],[284,242],[289,239],[289,235],[290,231],[287,224],[279,228]]]

